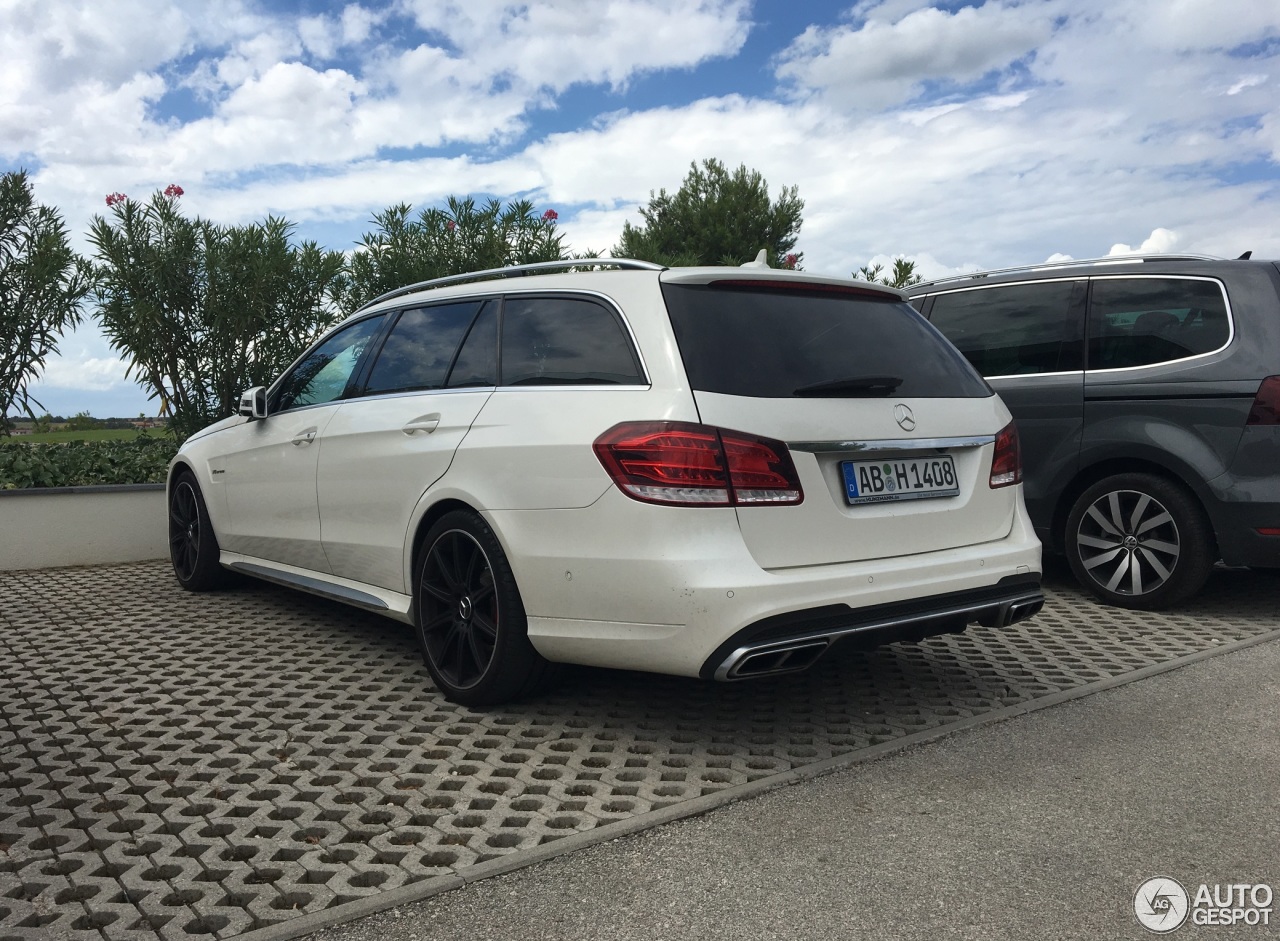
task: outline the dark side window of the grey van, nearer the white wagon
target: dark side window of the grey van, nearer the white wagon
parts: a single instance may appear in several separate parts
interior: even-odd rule
[[[1084,282],[1010,284],[933,298],[929,321],[984,376],[1082,367]]]

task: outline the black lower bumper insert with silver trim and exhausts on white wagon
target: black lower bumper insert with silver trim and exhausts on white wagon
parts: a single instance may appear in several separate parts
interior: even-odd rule
[[[851,608],[828,604],[765,618],[721,644],[700,675],[707,680],[748,680],[792,673],[812,666],[832,645],[873,648],[916,641],[982,623],[1004,627],[1044,607],[1039,575],[1010,575],[993,588],[932,595],[911,602]]]

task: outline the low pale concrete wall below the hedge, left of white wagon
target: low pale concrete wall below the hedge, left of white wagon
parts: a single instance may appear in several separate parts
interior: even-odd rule
[[[168,556],[164,484],[0,490],[0,570]]]

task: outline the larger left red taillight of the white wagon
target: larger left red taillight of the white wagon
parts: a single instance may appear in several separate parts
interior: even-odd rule
[[[804,499],[782,442],[690,421],[627,421],[595,439],[625,494],[672,506],[795,504]]]

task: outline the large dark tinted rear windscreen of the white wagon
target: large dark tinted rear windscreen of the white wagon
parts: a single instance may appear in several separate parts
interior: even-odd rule
[[[663,284],[695,390],[756,398],[992,394],[910,305],[823,289]]]

